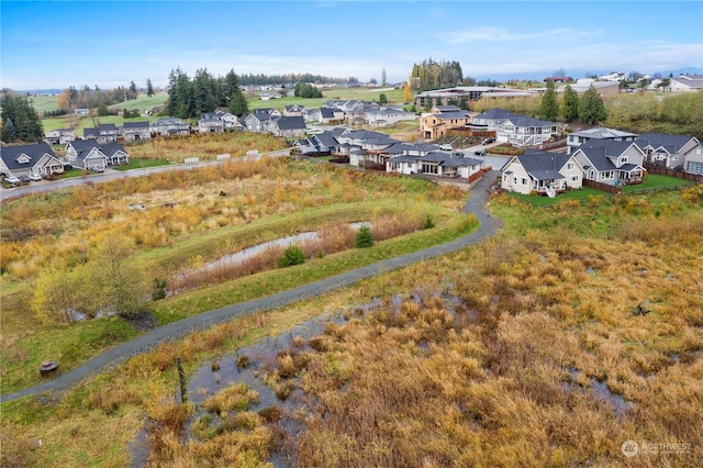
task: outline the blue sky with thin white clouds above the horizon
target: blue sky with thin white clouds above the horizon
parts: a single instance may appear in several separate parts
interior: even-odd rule
[[[703,68],[703,1],[5,1],[0,86],[166,85],[189,76],[408,78],[425,58],[465,76]]]

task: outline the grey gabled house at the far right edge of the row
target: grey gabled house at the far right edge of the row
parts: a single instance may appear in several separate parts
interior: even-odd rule
[[[703,147],[694,136],[644,133],[635,144],[645,153],[645,160],[649,164],[703,174]]]

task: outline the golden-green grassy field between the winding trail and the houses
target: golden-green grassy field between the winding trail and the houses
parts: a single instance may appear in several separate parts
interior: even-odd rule
[[[235,144],[233,140],[223,142],[231,147]],[[257,143],[263,142],[259,138]],[[2,391],[36,382],[36,365],[47,356],[59,358],[62,367],[69,369],[105,346],[133,336],[125,334],[125,323],[119,319],[63,323],[58,316],[40,314],[30,320],[25,313],[42,297],[33,291],[42,289],[44,281],[75,277],[83,282],[80,276],[85,272],[94,282],[101,264],[97,252],[114,249],[114,244],[105,242],[115,236],[132,245],[122,259],[129,258],[134,275],[148,271],[143,283],[146,292],[155,278],[172,278],[194,265],[281,236],[339,222],[379,224],[393,218],[424,220],[425,213],[433,213],[435,229],[379,242],[362,252],[335,252],[311,259],[297,267],[295,275],[277,269],[249,274],[234,282],[214,283],[152,303],[154,315],[167,323],[456,238],[472,227],[458,211],[464,199],[458,190],[422,180],[370,176],[326,164],[263,159],[88,185],[7,203],[0,278]],[[135,211],[133,205],[144,209]],[[60,276],[54,278],[52,271]],[[59,287],[53,285],[51,288]],[[80,301],[100,296],[86,286],[80,289],[86,291]],[[62,332],[56,334],[57,330]],[[89,342],[79,346],[86,336]]]

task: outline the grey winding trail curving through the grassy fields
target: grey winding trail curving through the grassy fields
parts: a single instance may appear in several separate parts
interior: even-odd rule
[[[496,170],[486,172],[471,191],[469,199],[464,207],[465,213],[473,213],[479,219],[479,230],[446,244],[436,245],[421,252],[415,252],[400,257],[390,258],[378,261],[366,267],[357,268],[331,278],[315,281],[309,285],[300,286],[288,291],[279,292],[266,298],[256,299],[249,302],[243,302],[235,305],[228,305],[215,309],[189,319],[172,322],[164,326],[159,326],[144,335],[134,339],[114,346],[98,356],[89,359],[81,366],[71,369],[66,374],[62,374],[53,380],[27,387],[22,390],[0,395],[0,403],[5,403],[19,398],[42,393],[49,390],[65,390],[76,385],[83,378],[100,371],[109,366],[120,364],[133,356],[148,352],[161,343],[178,339],[189,333],[209,328],[219,323],[228,322],[233,319],[245,316],[255,312],[267,311],[278,307],[288,305],[302,299],[314,296],[324,294],[354,285],[362,279],[371,278],[376,275],[388,272],[416,261],[426,260],[438,257],[444,254],[459,250],[467,245],[476,244],[498,231],[500,220],[490,218],[486,208],[488,201],[488,189],[495,180]]]

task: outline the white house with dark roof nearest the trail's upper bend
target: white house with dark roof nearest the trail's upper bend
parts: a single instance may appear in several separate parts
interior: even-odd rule
[[[583,168],[573,155],[528,149],[513,156],[501,168],[501,187],[505,190],[555,197],[567,188],[583,183]]]

